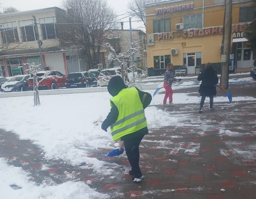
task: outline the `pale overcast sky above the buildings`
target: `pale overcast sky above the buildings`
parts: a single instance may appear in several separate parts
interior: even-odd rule
[[[124,22],[124,29],[130,29],[129,26],[129,16],[127,15],[127,2],[126,0],[107,0],[108,4],[114,8],[117,15],[119,15],[121,21]],[[35,1],[35,0],[0,0],[1,7],[14,7],[20,11],[28,11],[28,10],[35,10],[35,9],[41,9],[41,8],[48,8],[48,7],[54,7],[57,6],[59,8],[61,7],[62,0],[43,0],[43,1]],[[122,15],[122,16],[121,16]],[[132,18],[132,21],[136,21],[138,19]],[[138,22],[132,22],[132,28],[134,29],[142,29],[145,31],[145,28],[143,28],[143,23]]]

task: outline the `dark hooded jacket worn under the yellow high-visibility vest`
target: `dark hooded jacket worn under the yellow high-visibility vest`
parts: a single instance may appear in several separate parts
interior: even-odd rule
[[[136,87],[135,87],[136,88]],[[111,96],[116,96],[118,95],[118,93],[123,90],[126,89],[126,85],[124,84],[123,79],[120,76],[115,76],[112,77],[109,82],[108,82],[108,92]],[[152,96],[148,93],[148,92],[143,92],[140,91],[138,88],[136,88],[139,96],[140,96],[140,101],[142,102],[142,98],[144,94],[147,94],[143,104],[143,108],[145,109],[146,107],[148,107],[148,105],[150,104],[151,100],[152,100]],[[107,131],[108,127],[111,126],[112,124],[114,124],[118,118],[118,109],[116,107],[116,105],[110,101],[110,103],[112,104],[112,108],[110,109],[110,112],[108,113],[107,118],[104,120],[104,122],[101,125],[101,129]],[[130,139],[131,137],[134,136],[140,136],[145,135],[148,133],[148,127],[144,127],[134,133],[125,135],[123,137],[121,137],[121,140],[125,140],[125,139]]]

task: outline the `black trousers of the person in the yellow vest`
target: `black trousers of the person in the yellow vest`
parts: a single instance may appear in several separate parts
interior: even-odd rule
[[[140,161],[140,151],[139,145],[144,135],[138,135],[129,139],[124,139],[124,148],[127,158],[132,167],[132,171],[135,175],[141,173],[139,161]]]

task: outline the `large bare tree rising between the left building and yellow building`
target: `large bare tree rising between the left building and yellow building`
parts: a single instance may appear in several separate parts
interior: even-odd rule
[[[100,49],[108,29],[115,29],[116,15],[106,0],[64,0],[67,10],[65,36],[62,38],[77,48],[84,49],[88,65],[100,63]]]

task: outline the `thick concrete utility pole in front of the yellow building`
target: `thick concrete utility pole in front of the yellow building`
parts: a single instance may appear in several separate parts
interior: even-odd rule
[[[229,55],[231,45],[231,27],[232,27],[232,0],[225,1],[225,25],[223,27],[224,42],[223,55],[226,55],[226,62],[222,63],[220,85],[224,89],[228,89],[228,71],[229,71]]]

